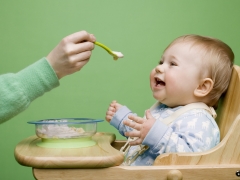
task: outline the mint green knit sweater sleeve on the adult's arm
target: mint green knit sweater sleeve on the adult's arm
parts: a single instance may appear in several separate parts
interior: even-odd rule
[[[59,86],[58,78],[45,58],[20,72],[0,76],[0,123],[25,110],[45,92]]]

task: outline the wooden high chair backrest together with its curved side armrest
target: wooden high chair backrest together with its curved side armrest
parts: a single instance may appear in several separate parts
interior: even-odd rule
[[[240,67],[234,66],[227,92],[218,108],[216,119],[220,143],[205,152],[165,153],[154,165],[220,165],[240,164]],[[229,179],[229,178],[227,178]]]

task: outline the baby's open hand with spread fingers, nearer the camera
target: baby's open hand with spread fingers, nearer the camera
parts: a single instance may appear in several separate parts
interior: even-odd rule
[[[142,144],[144,138],[147,136],[148,132],[152,128],[153,124],[155,123],[154,117],[151,115],[150,110],[146,111],[146,119],[130,115],[128,118],[129,120],[124,120],[123,124],[133,128],[134,130],[131,132],[126,132],[125,135],[131,138],[136,138],[134,141],[130,141],[130,145],[138,145]]]

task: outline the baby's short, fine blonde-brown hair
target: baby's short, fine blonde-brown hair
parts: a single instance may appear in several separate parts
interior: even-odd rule
[[[234,53],[232,49],[219,39],[199,36],[184,35],[175,39],[166,49],[179,42],[190,42],[192,47],[198,47],[208,78],[214,82],[213,89],[208,94],[207,105],[217,107],[218,100],[227,90],[234,63]],[[166,50],[165,50],[166,51]],[[205,73],[205,72],[204,72]]]

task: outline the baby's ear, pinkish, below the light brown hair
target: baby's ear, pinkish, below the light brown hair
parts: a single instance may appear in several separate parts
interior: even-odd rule
[[[199,86],[194,90],[194,95],[197,97],[207,96],[213,88],[213,80],[210,78],[205,78],[201,81]]]

